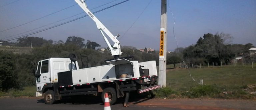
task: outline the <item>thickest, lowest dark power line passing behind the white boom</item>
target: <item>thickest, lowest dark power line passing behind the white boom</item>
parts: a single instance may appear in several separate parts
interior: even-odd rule
[[[106,9],[109,9],[109,8],[111,8],[111,7],[114,7],[114,6],[116,6],[116,5],[122,4],[122,3],[127,2],[127,1],[129,1],[129,0],[125,0],[125,1],[123,1],[123,2],[120,2],[120,3],[117,3],[117,4],[115,4],[115,5],[109,6],[109,7],[107,7],[107,8],[104,8],[104,9],[98,10],[98,11],[96,11],[96,12],[93,12],[93,14],[98,13],[98,12],[101,12],[101,11],[106,10]],[[18,36],[18,37],[15,37],[15,38],[13,38],[13,39],[7,39],[7,40],[5,40],[5,41],[11,41],[11,40],[15,40],[15,39],[18,39],[18,38],[26,37],[26,36],[29,36],[29,35],[32,35],[32,34],[36,34],[36,33],[39,33],[39,32],[43,32],[43,31],[46,31],[46,30],[49,30],[49,29],[52,29],[52,28],[55,28],[55,27],[58,27],[58,26],[61,26],[61,25],[64,25],[64,24],[70,23],[70,22],[72,22],[72,21],[75,21],[75,20],[78,20],[78,19],[84,18],[84,17],[86,17],[86,16],[88,16],[88,15],[81,16],[81,17],[79,17],[79,18],[76,18],[76,19],[73,19],[73,20],[70,20],[70,21],[67,21],[67,22],[64,22],[64,23],[61,23],[61,24],[58,24],[58,25],[55,25],[55,26],[49,27],[49,28],[45,28],[45,29],[42,29],[42,30],[39,30],[39,31],[36,31],[36,32],[30,33],[30,34],[26,34],[26,35]]]

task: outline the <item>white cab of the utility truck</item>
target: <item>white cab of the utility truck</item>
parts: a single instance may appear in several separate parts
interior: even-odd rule
[[[49,58],[41,60],[37,64],[36,75],[36,97],[41,97],[44,93],[44,85],[47,83],[57,83],[58,73],[79,69],[78,63],[71,62],[69,58]]]

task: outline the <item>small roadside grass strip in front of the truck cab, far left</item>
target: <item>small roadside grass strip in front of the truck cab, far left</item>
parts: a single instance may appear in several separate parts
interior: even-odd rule
[[[9,90],[8,92],[0,92],[0,97],[34,97],[36,93],[35,86],[24,87],[23,90]]]

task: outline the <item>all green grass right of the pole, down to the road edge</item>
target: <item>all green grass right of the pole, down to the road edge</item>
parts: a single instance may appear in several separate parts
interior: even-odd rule
[[[253,65],[254,68],[250,64],[209,66],[209,68],[201,66],[194,69],[179,67],[179,64],[176,64],[174,69],[173,64],[167,65],[167,88],[156,90],[156,96],[160,98],[256,99],[256,95],[250,94],[256,90],[256,64]],[[199,84],[200,79],[203,79],[203,85]],[[246,90],[248,85],[254,85],[254,88]]]

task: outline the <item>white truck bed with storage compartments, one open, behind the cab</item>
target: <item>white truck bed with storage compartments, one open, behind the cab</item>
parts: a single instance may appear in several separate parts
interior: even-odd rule
[[[147,77],[157,76],[155,61],[141,62],[130,61],[132,64],[103,65],[91,68],[78,69],[58,73],[58,86],[67,87],[73,85],[84,85],[100,82],[114,82],[135,80],[143,78],[140,76],[139,64],[144,65],[143,69],[148,69],[151,73]],[[126,74],[126,77],[122,77]]]

